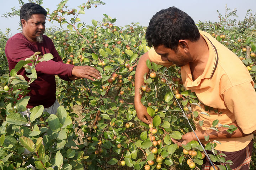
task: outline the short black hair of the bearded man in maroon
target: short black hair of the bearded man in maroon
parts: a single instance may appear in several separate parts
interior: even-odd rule
[[[46,10],[35,3],[26,3],[24,5],[22,5],[21,9],[20,9],[20,21],[21,19],[24,19],[25,21],[27,21],[28,19],[31,18],[31,16],[33,14],[43,14],[44,16],[47,15]],[[22,28],[22,24],[21,24],[21,28]]]

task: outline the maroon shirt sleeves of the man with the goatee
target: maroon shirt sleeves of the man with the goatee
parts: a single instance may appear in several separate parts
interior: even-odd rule
[[[56,51],[53,42],[51,42],[52,46],[52,55],[54,58],[50,61],[43,61],[37,64],[36,71],[38,73],[50,74],[50,75],[58,75],[61,78],[66,80],[68,76],[72,75],[73,65],[65,64],[62,62],[58,52]],[[15,49],[13,49],[15,47]],[[7,55],[10,60],[13,62],[18,62],[20,60],[25,60],[26,58],[32,56],[34,51],[31,50],[30,44],[26,41],[22,41],[20,39],[11,40],[11,45],[9,44],[6,48]],[[31,65],[31,64],[30,64]]]

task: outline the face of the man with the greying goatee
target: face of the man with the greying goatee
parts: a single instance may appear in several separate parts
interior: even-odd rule
[[[22,33],[29,41],[37,42],[42,39],[45,30],[45,19],[43,14],[33,14],[30,19],[21,19]]]

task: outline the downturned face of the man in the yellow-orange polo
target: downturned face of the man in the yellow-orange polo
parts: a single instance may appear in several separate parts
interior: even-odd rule
[[[179,67],[185,66],[189,62],[191,62],[190,58],[184,54],[182,54],[178,49],[174,51],[170,48],[165,47],[164,45],[159,45],[154,47],[156,53],[161,56],[162,61],[169,61],[171,63],[176,64]]]

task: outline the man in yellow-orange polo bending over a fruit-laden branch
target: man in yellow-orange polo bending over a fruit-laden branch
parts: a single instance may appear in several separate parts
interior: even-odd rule
[[[192,107],[192,112],[210,115],[200,114],[204,127],[195,121],[199,140],[206,144],[204,136],[209,135],[211,141],[220,141],[222,144],[217,144],[215,149],[226,154],[226,160],[233,161],[231,169],[249,169],[252,137],[256,130],[256,93],[244,64],[210,34],[199,31],[193,19],[176,7],[157,12],[150,20],[145,38],[154,48],[140,57],[136,69],[134,103],[138,118],[148,124],[151,120],[140,101],[143,76],[149,72],[146,60],[167,67],[176,64],[181,67],[183,85],[195,92],[201,102],[201,107]],[[209,111],[204,106],[218,112]],[[216,119],[220,124],[235,125],[238,129],[233,134],[228,134],[225,128],[219,132],[209,129]],[[196,136],[189,132],[182,136],[182,140],[173,141],[182,146],[192,140],[197,140]],[[204,169],[209,169],[207,163]]]

